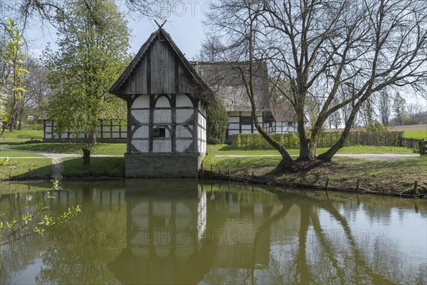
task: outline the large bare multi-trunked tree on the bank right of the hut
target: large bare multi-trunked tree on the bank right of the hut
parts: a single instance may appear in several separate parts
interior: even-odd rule
[[[375,93],[387,87],[426,86],[423,0],[222,0],[213,5],[209,26],[228,46],[228,54],[233,52],[233,60],[268,61],[269,78],[280,78],[273,84],[297,112],[298,161],[331,160],[344,146],[362,105]],[[248,74],[251,98],[252,65],[242,73]],[[290,88],[280,82],[290,83]],[[308,135],[304,111],[310,97],[320,104],[320,113]],[[337,110],[347,112],[342,135],[316,156],[322,126]],[[285,146],[256,120],[255,126],[279,150],[280,165],[292,167]]]

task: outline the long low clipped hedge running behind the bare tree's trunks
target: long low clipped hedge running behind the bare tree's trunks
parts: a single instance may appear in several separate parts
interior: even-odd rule
[[[310,135],[310,134],[308,134]],[[331,147],[339,139],[341,133],[328,132],[321,133],[317,147]],[[375,146],[399,146],[404,132],[398,131],[376,131],[352,132],[347,137],[346,146],[349,145],[375,145]],[[300,142],[297,133],[270,134],[270,137],[278,140],[287,148],[298,148]],[[231,138],[231,145],[238,148],[249,149],[272,149],[271,145],[259,134],[234,134]]]

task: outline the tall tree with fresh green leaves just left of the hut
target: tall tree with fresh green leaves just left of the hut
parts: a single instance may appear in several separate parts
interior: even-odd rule
[[[85,133],[84,164],[96,143],[97,122],[102,118],[123,118],[125,103],[108,89],[129,62],[127,21],[114,1],[69,1],[63,19],[58,20],[58,47],[46,51],[54,92],[47,114],[75,137]]]

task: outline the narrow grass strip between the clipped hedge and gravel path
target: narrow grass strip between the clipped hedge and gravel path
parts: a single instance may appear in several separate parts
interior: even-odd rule
[[[231,145],[208,145],[206,147],[207,152],[210,155],[280,155],[277,150],[245,150],[241,148],[235,148]],[[317,149],[317,153],[322,153],[327,150],[327,147],[320,147]],[[299,150],[290,149],[288,150],[290,155],[298,155]],[[363,146],[354,145],[351,147],[343,147],[338,153],[391,153],[391,154],[411,154],[417,152],[416,149],[408,147],[375,147],[375,146]]]

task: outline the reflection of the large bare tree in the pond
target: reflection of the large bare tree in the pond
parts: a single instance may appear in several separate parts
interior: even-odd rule
[[[389,268],[384,270],[378,264],[367,261],[366,254],[359,249],[359,244],[357,244],[347,218],[337,210],[337,208],[342,209],[342,203],[337,202],[339,199],[336,197],[335,199],[328,199],[327,195],[320,195],[315,192],[302,193],[302,199],[295,199],[295,194],[278,194],[283,202],[284,210],[280,215],[267,222],[263,228],[263,230],[271,230],[273,226],[277,227],[278,224],[275,222],[287,219],[286,211],[291,207],[300,209],[299,225],[295,224],[298,229],[295,237],[292,232],[290,242],[278,242],[278,246],[272,244],[273,254],[268,269],[267,282],[285,284],[294,282],[303,284],[391,284],[394,283],[391,280],[396,280],[398,283],[408,281],[408,279],[402,278],[407,278],[410,274],[402,277],[390,272],[397,271],[401,274],[402,268],[399,264],[386,264]],[[380,197],[379,199],[383,198]],[[348,196],[344,201],[349,202]],[[357,204],[354,206],[358,207]],[[346,208],[346,211],[348,210]],[[334,229],[334,231],[339,232],[340,237],[344,237],[344,241],[334,241],[331,233],[328,236],[328,226],[327,223],[325,225],[325,219],[320,219],[320,212],[324,212],[324,215],[327,213],[328,219],[333,219],[339,224],[339,228]],[[275,229],[275,232],[280,232],[280,229]],[[313,237],[315,237],[314,240]],[[378,254],[381,254],[381,257],[386,257],[388,250],[394,249],[381,250]],[[280,254],[274,254],[274,251],[280,252]],[[419,276],[419,272],[423,271],[422,269],[415,271],[418,276],[412,276],[414,281],[426,279],[426,276]],[[377,272],[381,272],[381,274]],[[265,282],[265,280],[261,282]]]

